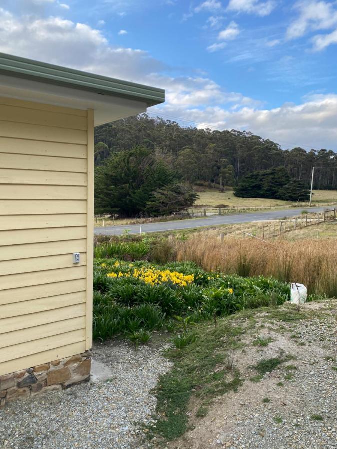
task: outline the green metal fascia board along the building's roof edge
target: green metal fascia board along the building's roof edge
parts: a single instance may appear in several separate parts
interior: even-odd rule
[[[143,101],[148,107],[165,101],[164,89],[108,78],[5,53],[0,53],[0,74]]]

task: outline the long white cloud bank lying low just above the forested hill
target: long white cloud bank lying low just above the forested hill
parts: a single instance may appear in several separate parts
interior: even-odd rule
[[[160,111],[162,108],[154,108]],[[224,108],[211,105],[203,109],[166,104],[164,113],[208,124],[216,129],[237,129],[280,143],[284,148],[333,148],[337,141],[337,95],[313,95],[299,105],[284,104],[279,108],[260,109],[253,105]],[[205,128],[206,125],[199,125]]]

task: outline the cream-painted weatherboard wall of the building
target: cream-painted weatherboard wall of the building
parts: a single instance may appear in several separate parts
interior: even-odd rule
[[[93,123],[0,97],[0,375],[91,347]]]

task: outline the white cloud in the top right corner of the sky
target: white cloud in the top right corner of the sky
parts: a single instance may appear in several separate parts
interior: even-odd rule
[[[295,4],[299,16],[287,29],[287,38],[302,37],[308,31],[330,29],[337,25],[337,10],[326,1],[300,1]]]

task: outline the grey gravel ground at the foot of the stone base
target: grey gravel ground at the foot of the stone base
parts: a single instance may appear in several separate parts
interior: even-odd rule
[[[0,448],[145,448],[140,423],[151,421],[150,389],[169,369],[160,345],[96,345],[93,358],[112,378],[9,403],[0,410]]]

